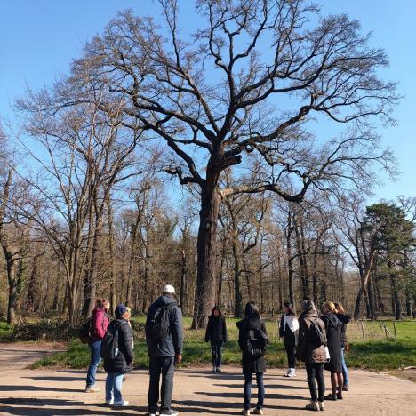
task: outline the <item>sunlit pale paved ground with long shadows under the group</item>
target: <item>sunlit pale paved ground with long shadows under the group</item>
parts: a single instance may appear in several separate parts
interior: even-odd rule
[[[210,374],[208,369],[179,370],[175,374],[172,407],[181,415],[238,414],[242,409],[243,377],[236,368]],[[135,371],[124,382],[124,398],[132,406],[112,410],[104,406],[103,393],[84,393],[85,373],[68,370],[3,371],[0,380],[0,414],[12,415],[107,415],[145,414],[148,374]],[[308,414],[306,374],[286,379],[282,370],[269,370],[265,377],[268,415]],[[105,374],[99,374],[104,388]],[[330,385],[326,379],[327,386]],[[387,374],[352,371],[352,387],[345,398],[326,403],[326,414],[412,415],[416,414],[416,383]],[[255,396],[255,395],[254,395]]]

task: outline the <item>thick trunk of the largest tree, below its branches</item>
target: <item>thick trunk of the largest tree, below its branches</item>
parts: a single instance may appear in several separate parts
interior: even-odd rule
[[[215,262],[217,260],[217,221],[220,195],[217,190],[218,173],[206,173],[206,184],[201,192],[201,211],[197,240],[197,274],[195,308],[192,328],[204,328],[211,314],[215,291]]]

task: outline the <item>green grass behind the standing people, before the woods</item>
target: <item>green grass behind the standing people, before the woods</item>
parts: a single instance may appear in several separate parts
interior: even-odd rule
[[[143,324],[145,317],[140,316],[133,319],[135,330],[135,364],[138,367],[148,365],[148,354],[146,342],[143,340]],[[227,319],[228,343],[224,346],[224,364],[240,364],[241,353],[237,347],[236,319]],[[211,364],[211,350],[209,344],[204,342],[204,330],[191,331],[189,326],[191,319],[185,318],[185,347],[183,354],[183,366]],[[355,324],[355,323],[354,323]],[[389,323],[390,325],[391,323]],[[358,324],[357,324],[358,325]],[[380,324],[365,323],[366,331],[381,332]],[[391,324],[392,325],[392,324]],[[276,336],[276,322],[268,321],[269,338],[271,340],[267,362],[269,367],[285,367],[286,356],[284,346]],[[388,326],[390,328],[390,326]],[[349,329],[348,329],[349,331]],[[347,353],[347,362],[350,367],[364,368],[369,370],[394,370],[402,366],[416,365],[416,323],[396,323],[397,340],[356,340],[352,332],[351,349]],[[360,329],[361,332],[361,329]],[[392,332],[393,333],[393,332]],[[359,334],[359,336],[361,336]],[[384,335],[383,335],[384,336]],[[359,338],[359,337],[358,337]],[[32,368],[43,366],[65,366],[71,368],[85,368],[89,363],[88,346],[82,345],[78,340],[71,340],[68,351],[57,354],[50,358],[44,358],[32,364]]]

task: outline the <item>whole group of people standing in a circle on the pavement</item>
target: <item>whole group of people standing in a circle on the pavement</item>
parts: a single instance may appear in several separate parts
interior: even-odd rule
[[[116,319],[108,320],[108,300],[97,300],[92,311],[89,346],[91,364],[86,378],[85,392],[98,392],[95,374],[101,357],[104,360],[106,404],[127,406],[122,396],[124,374],[132,370],[133,337],[130,324],[131,310],[124,305],[115,309]],[[324,410],[324,399],[342,399],[348,390],[348,369],[344,351],[348,348],[346,325],[350,318],[339,303],[325,302],[320,315],[312,300],[302,303],[302,312],[296,316],[290,303],[284,303],[279,335],[288,358],[286,377],[296,376],[296,360],[305,363],[311,401],[308,410]],[[268,332],[260,318],[259,308],[248,302],[244,318],[237,322],[238,345],[242,351],[244,373],[244,409],[242,414],[263,414],[265,397],[264,373]],[[172,410],[172,390],[175,364],[182,360],[183,323],[180,306],[172,285],[165,285],[162,295],[148,309],[146,340],[149,356],[148,414],[149,416],[177,415]],[[212,372],[221,372],[222,348],[228,340],[227,325],[219,307],[212,309],[208,318],[205,341],[211,343]],[[324,396],[324,369],[331,372],[332,393]],[[252,378],[255,374],[258,399],[252,410]],[[162,384],[160,379],[162,375]],[[317,390],[316,390],[317,382]],[[159,396],[161,399],[158,408]]]

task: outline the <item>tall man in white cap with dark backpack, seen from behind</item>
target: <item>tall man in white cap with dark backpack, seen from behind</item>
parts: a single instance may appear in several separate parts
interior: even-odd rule
[[[173,392],[173,375],[175,363],[182,360],[183,324],[182,312],[175,295],[175,288],[166,284],[162,296],[148,308],[146,320],[146,340],[148,342],[149,373],[148,413],[150,416],[177,415],[171,409]],[[157,412],[159,401],[159,382],[161,407]]]

